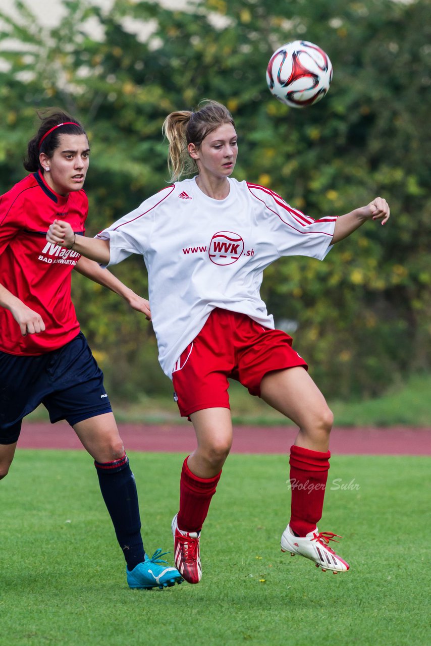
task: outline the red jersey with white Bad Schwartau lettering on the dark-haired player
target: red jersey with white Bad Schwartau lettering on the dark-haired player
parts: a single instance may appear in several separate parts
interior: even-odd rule
[[[12,355],[41,355],[61,348],[79,332],[70,298],[70,275],[81,257],[49,244],[47,230],[67,220],[83,234],[88,213],[84,191],[54,193],[36,172],[0,198],[0,283],[41,315],[45,331],[21,335],[8,309],[0,307],[0,350]]]

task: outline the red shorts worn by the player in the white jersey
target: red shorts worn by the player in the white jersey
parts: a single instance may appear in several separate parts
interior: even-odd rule
[[[182,417],[204,408],[229,408],[228,377],[260,396],[271,370],[308,368],[279,329],[263,328],[245,314],[213,309],[197,337],[175,364],[174,397]]]

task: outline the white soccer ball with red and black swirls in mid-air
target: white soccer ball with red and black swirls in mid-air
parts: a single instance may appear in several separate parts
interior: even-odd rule
[[[292,41],[273,53],[266,68],[270,92],[282,103],[304,108],[320,101],[330,89],[328,54],[308,41]]]

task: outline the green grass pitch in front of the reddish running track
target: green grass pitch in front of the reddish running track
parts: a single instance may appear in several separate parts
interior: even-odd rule
[[[145,547],[171,550],[182,456],[130,457]],[[0,643],[424,646],[428,470],[420,457],[331,460],[319,527],[344,536],[351,564],[333,576],[280,552],[286,457],[231,455],[202,534],[201,583],[146,592],[127,587],[87,454],[21,450],[0,485]]]

